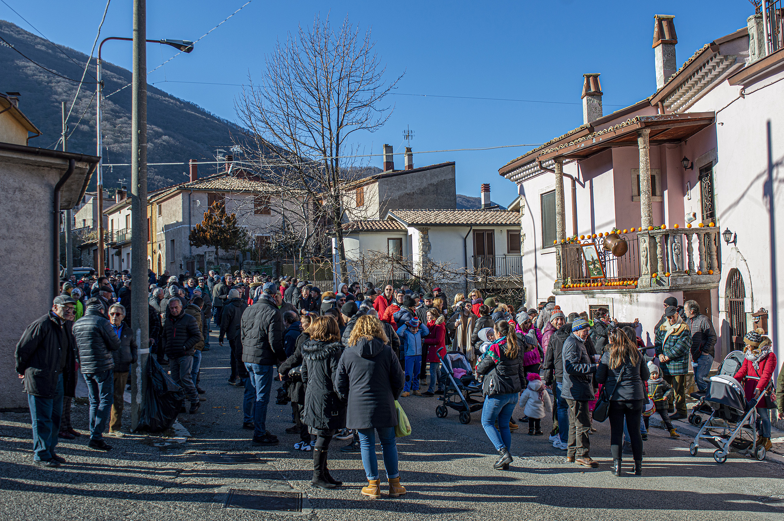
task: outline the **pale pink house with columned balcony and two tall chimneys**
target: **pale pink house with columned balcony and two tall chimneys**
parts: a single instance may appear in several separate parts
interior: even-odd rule
[[[524,206],[528,306],[550,295],[567,313],[604,306],[621,321],[638,317],[652,344],[664,298],[694,299],[720,336],[714,365],[760,324],[770,325],[782,360],[771,252],[784,273],[784,239],[775,239],[768,212],[771,202],[782,208],[781,27],[750,16],[678,67],[673,16],[656,15],[657,85],[641,93],[648,97],[604,115],[599,74],[585,74],[583,125],[499,168]],[[774,224],[782,230],[782,217]],[[627,248],[621,256],[603,250],[613,228]],[[760,309],[771,320],[755,325]]]

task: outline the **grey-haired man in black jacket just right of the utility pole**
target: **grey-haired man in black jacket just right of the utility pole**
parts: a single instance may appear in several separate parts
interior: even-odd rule
[[[169,356],[169,373],[191,402],[190,414],[195,414],[199,399],[191,370],[195,346],[201,342],[201,330],[196,319],[183,310],[180,298],[172,298],[169,302],[169,317],[163,326],[163,335],[166,338],[166,354]],[[184,409],[183,406],[182,412],[185,412]]]

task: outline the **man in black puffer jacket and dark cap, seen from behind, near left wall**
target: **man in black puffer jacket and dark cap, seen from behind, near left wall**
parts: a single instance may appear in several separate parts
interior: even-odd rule
[[[87,301],[85,316],[74,324],[79,353],[79,368],[85,378],[90,402],[89,447],[111,450],[103,440],[103,429],[114,403],[114,356],[120,339],[104,314],[103,302],[93,297]]]

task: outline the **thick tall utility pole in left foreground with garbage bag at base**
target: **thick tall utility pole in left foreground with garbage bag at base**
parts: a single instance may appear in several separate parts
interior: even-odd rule
[[[139,356],[131,376],[131,429],[139,425],[150,357],[147,313],[147,2],[133,0],[131,120],[131,329]]]

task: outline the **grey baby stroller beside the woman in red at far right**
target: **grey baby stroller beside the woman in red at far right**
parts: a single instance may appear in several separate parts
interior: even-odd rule
[[[765,458],[765,447],[757,445],[757,403],[760,403],[771,389],[768,383],[764,393],[757,400],[746,403],[742,386],[727,374],[710,377],[705,403],[713,411],[702,424],[694,441],[689,446],[689,454],[697,455],[699,440],[707,440],[717,447],[713,459],[717,463],[727,461],[727,454],[737,452],[745,456]]]

